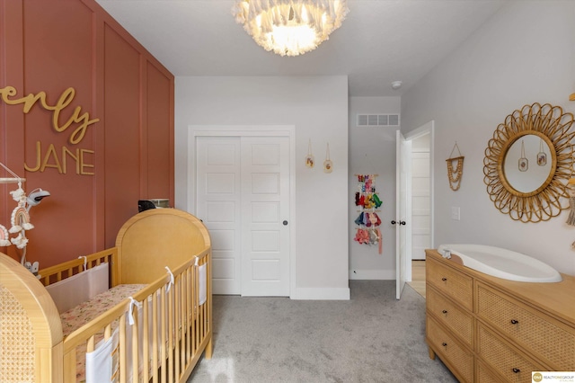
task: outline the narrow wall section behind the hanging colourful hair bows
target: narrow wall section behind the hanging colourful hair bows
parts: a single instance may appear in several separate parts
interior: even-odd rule
[[[401,112],[400,97],[349,98],[349,279],[395,279],[395,128],[357,127],[358,114],[395,114]],[[382,254],[376,245],[354,241],[359,215],[355,206],[358,178],[355,174],[378,174],[377,195],[382,200],[377,215],[382,220]]]

